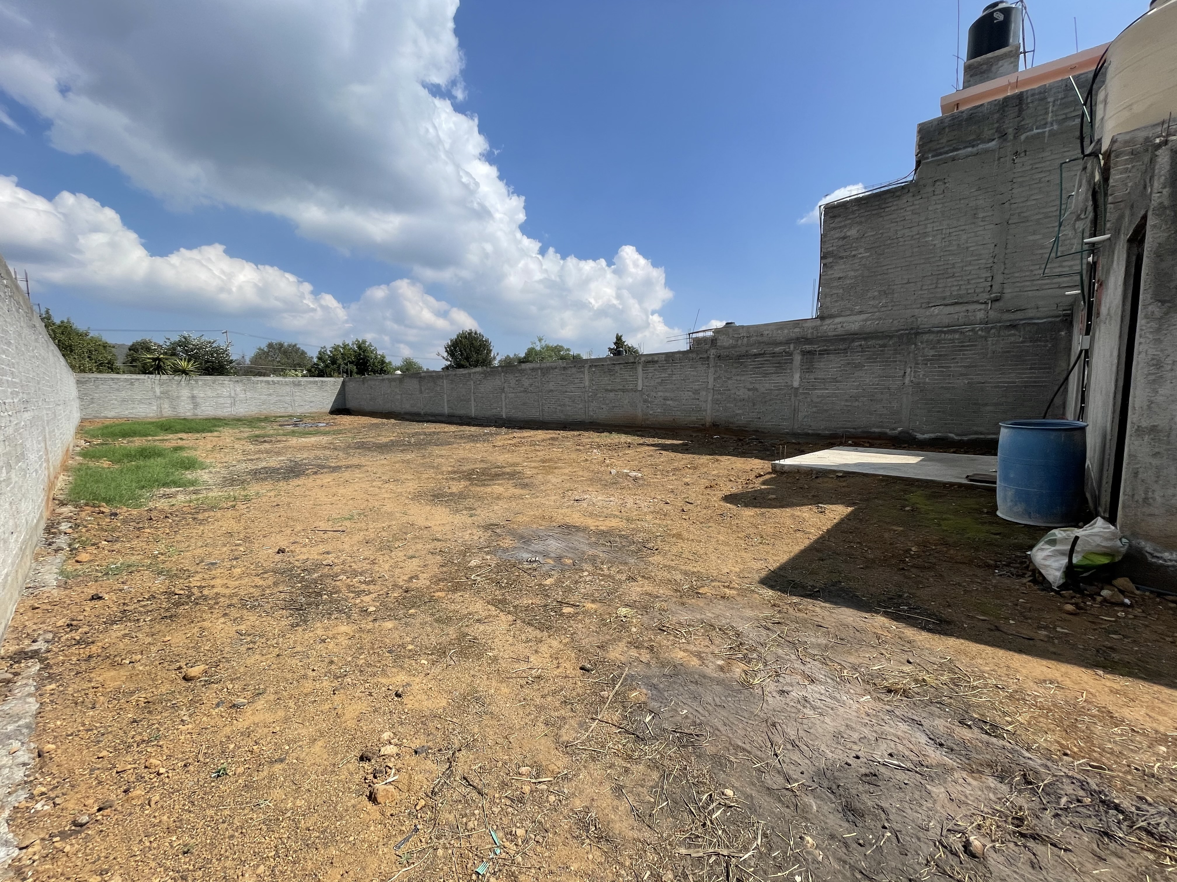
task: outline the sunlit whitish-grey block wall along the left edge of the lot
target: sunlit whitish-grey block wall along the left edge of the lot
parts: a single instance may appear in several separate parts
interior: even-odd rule
[[[0,258],[0,637],[77,428],[73,372]]]

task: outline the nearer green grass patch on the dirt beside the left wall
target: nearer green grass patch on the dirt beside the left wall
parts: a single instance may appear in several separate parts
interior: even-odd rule
[[[69,499],[104,506],[141,508],[161,487],[195,487],[189,475],[207,463],[182,447],[162,445],[98,445],[79,454],[84,460],[73,469]]]

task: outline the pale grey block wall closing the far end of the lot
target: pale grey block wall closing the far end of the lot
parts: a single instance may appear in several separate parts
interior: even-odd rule
[[[78,374],[84,420],[250,416],[338,410],[343,380],[286,376]]]

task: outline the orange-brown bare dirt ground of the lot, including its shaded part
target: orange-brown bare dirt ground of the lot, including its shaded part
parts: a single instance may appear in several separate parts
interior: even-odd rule
[[[211,487],[54,514],[82,560],[4,647],[49,646],[18,877],[1177,867],[1177,607],[1068,615],[991,489],[330,421],[177,439]]]

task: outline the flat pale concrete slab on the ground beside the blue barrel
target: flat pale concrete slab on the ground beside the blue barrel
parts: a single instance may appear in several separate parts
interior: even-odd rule
[[[890,475],[915,477],[920,481],[991,487],[992,485],[970,481],[967,475],[991,474],[996,480],[997,457],[930,450],[884,450],[877,447],[831,447],[829,450],[790,456],[787,460],[777,460],[772,463],[773,472],[797,469],[856,472],[865,475]]]

